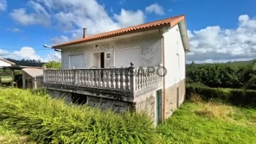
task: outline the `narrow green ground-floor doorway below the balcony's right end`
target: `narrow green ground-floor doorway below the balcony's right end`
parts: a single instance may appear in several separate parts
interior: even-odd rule
[[[159,89],[156,91],[156,125],[161,123],[163,115],[163,107],[162,107],[162,90]]]

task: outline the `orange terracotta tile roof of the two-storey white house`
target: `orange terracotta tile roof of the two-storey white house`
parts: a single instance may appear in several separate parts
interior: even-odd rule
[[[92,41],[92,40],[112,38],[112,37],[115,37],[115,36],[125,35],[125,34],[129,34],[129,33],[137,33],[137,32],[141,32],[141,31],[154,30],[154,29],[157,29],[157,28],[161,28],[163,26],[173,27],[178,22],[183,21],[183,19],[185,19],[184,15],[174,16],[174,17],[166,18],[166,19],[159,20],[159,21],[144,23],[144,24],[141,24],[141,25],[138,25],[138,26],[130,26],[130,27],[127,27],[127,28],[121,28],[119,30],[110,31],[110,32],[107,32],[107,33],[100,33],[100,34],[97,34],[97,35],[87,36],[86,38],[80,38],[78,40],[73,40],[73,41],[70,41],[68,43],[63,43],[63,44],[60,44],[60,45],[54,45],[53,48],[60,48],[62,46],[74,45],[74,44],[78,44],[78,43],[85,43],[85,42]]]

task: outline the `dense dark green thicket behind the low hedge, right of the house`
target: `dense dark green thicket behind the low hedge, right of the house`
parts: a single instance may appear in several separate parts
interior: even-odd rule
[[[217,64],[196,64],[193,62],[186,67],[187,82],[202,83],[208,87],[241,88],[252,74],[256,74],[256,72],[243,74],[249,64],[249,62]],[[250,87],[250,89],[256,89],[256,86]]]

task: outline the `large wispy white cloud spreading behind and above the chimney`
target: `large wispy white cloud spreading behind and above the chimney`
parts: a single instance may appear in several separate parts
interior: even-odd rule
[[[53,24],[65,35],[71,35],[72,39],[82,38],[82,28],[87,28],[88,35],[94,35],[144,23],[144,13],[141,10],[122,9],[112,17],[105,10],[105,6],[96,0],[31,0],[26,9],[15,9],[10,15],[14,21],[23,25]]]

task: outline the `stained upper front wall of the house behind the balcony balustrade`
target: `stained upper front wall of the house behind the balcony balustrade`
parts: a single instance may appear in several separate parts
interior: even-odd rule
[[[98,50],[95,50],[95,45],[97,45]],[[70,55],[84,55],[84,68],[100,67],[99,52],[105,52],[105,68],[112,67],[114,66],[114,51],[125,48],[142,48],[142,65],[144,67],[158,66],[161,63],[161,35],[158,31],[154,31],[154,33],[129,38],[97,40],[93,43],[82,43],[63,48],[62,68],[69,68]],[[107,58],[107,54],[110,54],[109,58]]]

